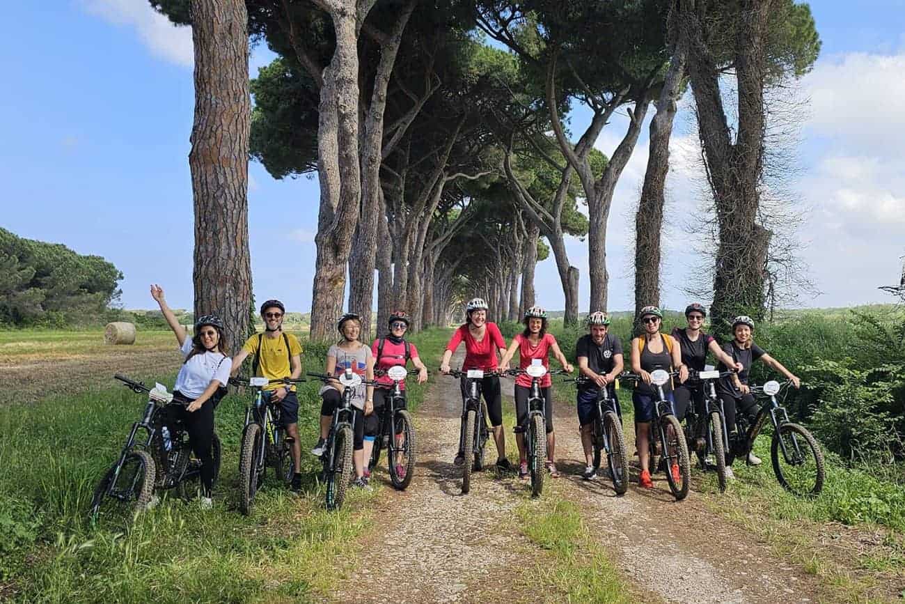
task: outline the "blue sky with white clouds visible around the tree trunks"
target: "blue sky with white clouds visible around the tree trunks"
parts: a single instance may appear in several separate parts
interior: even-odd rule
[[[814,115],[805,120],[799,155],[807,170],[798,187],[810,196],[807,205],[816,213],[814,232],[803,234],[812,242],[805,257],[826,293],[802,304],[881,302],[885,298],[875,287],[895,280],[898,256],[905,252],[900,236],[905,224],[899,216],[905,214],[905,166],[895,149],[884,144],[905,139],[905,110],[900,109],[905,103],[891,91],[893,101],[881,107],[877,123],[862,128],[857,125],[859,108],[840,100],[854,97],[863,111],[876,112],[872,98],[889,90],[888,85],[853,90],[853,81],[869,85],[885,74],[901,80],[905,2],[860,2],[857,8],[821,2],[812,7],[824,47],[804,86],[814,99]],[[81,254],[104,256],[126,275],[122,300],[129,308],[153,305],[148,296],[152,282],[165,286],[174,306],[190,307],[190,33],[161,23],[144,0],[13,3],[6,14],[10,26],[0,38],[0,62],[9,82],[0,96],[0,226],[16,235],[69,245]],[[266,50],[256,49],[252,73],[270,59]],[[574,129],[583,118],[576,113]],[[687,120],[682,123],[687,126]],[[687,127],[680,125],[679,132],[693,139]],[[606,146],[615,139],[615,133],[609,138],[605,133],[601,148],[611,151]],[[631,255],[625,238],[631,230],[637,173],[643,174],[646,161],[644,139],[633,158],[635,176],[630,166],[611,217],[614,309],[631,302],[631,279],[623,274]],[[255,295],[259,300],[278,296],[291,310],[308,311],[317,180],[276,181],[256,164],[250,173]],[[693,196],[681,179],[675,186],[677,212],[690,212]],[[680,243],[681,225],[677,218],[673,237]],[[827,231],[834,228],[841,229],[838,235]],[[685,301],[681,274],[694,266],[694,259],[682,255],[681,245],[673,245],[664,298],[677,307]],[[569,249],[582,270],[586,300],[584,244],[574,241]],[[865,266],[870,268],[865,271]],[[538,267],[538,284],[548,292],[539,302],[561,308],[552,259]]]

